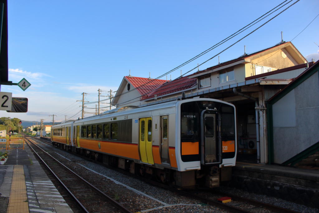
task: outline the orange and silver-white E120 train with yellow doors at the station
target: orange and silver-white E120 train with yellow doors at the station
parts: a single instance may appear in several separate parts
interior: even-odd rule
[[[55,146],[180,187],[231,179],[237,151],[233,104],[193,98],[127,106],[52,126]]]

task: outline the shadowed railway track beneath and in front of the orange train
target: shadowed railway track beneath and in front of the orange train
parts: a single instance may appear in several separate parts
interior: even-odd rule
[[[40,140],[40,139],[37,138],[37,140]],[[51,143],[47,141],[44,141],[44,140],[40,140],[40,141],[45,142],[49,145],[52,145]],[[115,170],[120,171],[124,174],[127,174],[128,176],[133,176],[129,172],[126,172],[120,169],[115,169]],[[134,177],[137,178],[136,176]],[[295,212],[290,209],[284,209],[284,208],[280,208],[278,206],[270,205],[267,203],[262,203],[262,202],[250,200],[247,198],[243,198],[243,197],[238,197],[233,194],[225,194],[215,189],[213,190],[211,189],[181,190],[181,189],[175,188],[174,186],[172,187],[166,184],[161,184],[159,182],[152,181],[147,178],[143,178],[143,177],[138,177],[138,178],[142,179],[144,182],[147,182],[153,186],[170,190],[176,194],[198,200],[202,203],[216,206],[220,209],[225,209],[226,211],[229,211],[229,212],[290,212],[290,213]],[[222,203],[217,201],[218,198],[226,197],[226,196],[231,197],[232,201],[228,203]]]

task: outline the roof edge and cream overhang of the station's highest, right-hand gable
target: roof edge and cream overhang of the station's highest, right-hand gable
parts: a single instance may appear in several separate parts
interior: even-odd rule
[[[276,45],[274,45],[274,46],[272,46],[270,48],[266,48],[266,49],[263,49],[263,50],[260,50],[260,51],[257,51],[257,52],[251,53],[251,54],[242,55],[242,56],[240,56],[238,58],[235,58],[233,60],[220,63],[218,65],[209,67],[209,68],[207,68],[205,70],[201,70],[201,71],[195,72],[193,74],[190,74],[189,78],[195,78],[195,77],[198,77],[198,76],[201,76],[201,75],[204,75],[204,74],[208,74],[210,72],[215,72],[215,71],[218,71],[218,70],[221,70],[221,69],[225,69],[227,67],[231,67],[231,66],[234,66],[234,65],[237,65],[237,64],[250,63],[251,59],[254,58],[254,56],[257,56],[258,54],[262,54],[262,53],[268,54],[269,52],[273,51],[273,49],[279,48],[279,47],[280,48],[287,48],[288,49],[287,51],[289,53],[291,53],[293,55],[293,57],[296,60],[298,60],[298,62],[300,64],[303,64],[303,63],[307,62],[306,58],[301,55],[299,50],[291,42],[284,42],[284,43],[279,43],[279,44],[276,44]]]

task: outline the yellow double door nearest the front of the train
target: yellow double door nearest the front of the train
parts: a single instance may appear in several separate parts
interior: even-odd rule
[[[152,152],[152,118],[139,120],[139,152],[143,163],[154,164]]]

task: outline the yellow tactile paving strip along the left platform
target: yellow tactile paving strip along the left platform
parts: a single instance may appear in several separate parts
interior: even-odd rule
[[[15,165],[13,168],[10,199],[7,209],[7,213],[18,212],[29,212],[23,165]]]

